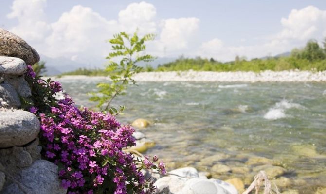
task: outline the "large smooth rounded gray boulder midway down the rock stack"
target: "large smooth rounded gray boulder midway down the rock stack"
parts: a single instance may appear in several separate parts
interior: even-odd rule
[[[25,145],[36,139],[39,129],[40,123],[33,113],[0,111],[0,148]]]

